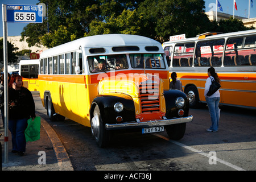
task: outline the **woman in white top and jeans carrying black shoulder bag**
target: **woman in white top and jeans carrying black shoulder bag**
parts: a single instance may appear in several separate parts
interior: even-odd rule
[[[213,67],[208,68],[208,76],[209,77],[205,83],[204,96],[210,112],[210,120],[212,121],[212,126],[210,126],[207,131],[216,132],[218,131],[218,119],[220,112],[220,109],[218,108],[218,104],[220,103],[220,92],[217,90],[212,94],[212,96],[207,96],[207,93],[209,92],[210,85],[212,84],[212,79],[213,81],[220,83],[220,78],[218,78],[218,75]]]

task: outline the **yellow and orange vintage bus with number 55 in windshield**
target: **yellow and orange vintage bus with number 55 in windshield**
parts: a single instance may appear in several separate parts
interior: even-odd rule
[[[50,120],[91,127],[100,147],[112,130],[166,129],[180,139],[193,119],[187,95],[169,90],[161,44],[143,36],[88,36],[44,51],[39,90]]]

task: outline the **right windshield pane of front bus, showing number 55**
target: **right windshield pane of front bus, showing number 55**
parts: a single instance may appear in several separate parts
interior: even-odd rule
[[[132,68],[165,69],[162,54],[130,54]],[[144,64],[144,65],[143,65]]]

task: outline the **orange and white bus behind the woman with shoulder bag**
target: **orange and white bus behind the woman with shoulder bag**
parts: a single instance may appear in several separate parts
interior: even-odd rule
[[[205,102],[207,69],[221,79],[222,105],[256,109],[256,30],[216,34],[163,43],[170,58],[170,75],[176,72],[189,97],[189,106]]]

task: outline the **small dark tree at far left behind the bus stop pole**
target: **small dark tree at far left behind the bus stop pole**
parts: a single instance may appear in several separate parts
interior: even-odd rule
[[[18,60],[18,57],[15,55],[15,51],[19,48],[14,47],[13,44],[7,41],[7,62],[15,63]],[[0,39],[0,63],[3,64],[3,39]]]

